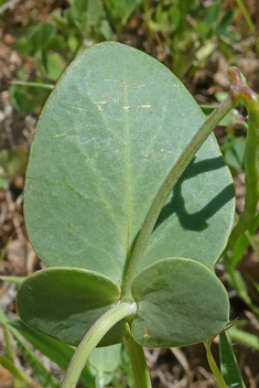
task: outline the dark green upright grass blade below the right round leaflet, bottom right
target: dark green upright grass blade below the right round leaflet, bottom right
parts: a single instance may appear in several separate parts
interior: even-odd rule
[[[219,334],[219,349],[220,369],[227,386],[246,388],[233,351],[231,342],[226,332]]]

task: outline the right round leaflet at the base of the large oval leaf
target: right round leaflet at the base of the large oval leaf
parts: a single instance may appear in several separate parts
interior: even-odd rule
[[[228,322],[228,297],[203,265],[168,258],[145,268],[132,283],[138,312],[132,336],[141,346],[172,347],[202,342]]]

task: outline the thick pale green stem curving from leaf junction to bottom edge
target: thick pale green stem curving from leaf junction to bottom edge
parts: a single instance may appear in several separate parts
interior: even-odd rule
[[[91,326],[82,340],[66,370],[65,378],[61,388],[75,388],[80,377],[82,370],[86,365],[87,358],[94,348],[98,345],[105,334],[123,317],[134,314],[137,304],[118,303],[115,308],[108,310]]]

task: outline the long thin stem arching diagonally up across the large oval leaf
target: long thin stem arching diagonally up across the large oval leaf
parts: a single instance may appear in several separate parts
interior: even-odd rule
[[[193,139],[190,141],[188,146],[184,149],[182,154],[179,157],[176,163],[165,177],[162,186],[160,187],[154,201],[150,207],[150,211],[145,217],[145,220],[140,229],[139,236],[137,237],[132,255],[127,259],[125,267],[125,274],[122,281],[122,300],[131,299],[131,282],[137,273],[139,262],[143,256],[148,239],[153,230],[153,227],[158,220],[158,217],[164,206],[170,193],[179,181],[180,176],[183,174],[185,169],[188,166],[199,148],[203,146],[204,141],[212,133],[214,128],[219,123],[219,121],[227,115],[227,112],[234,107],[234,101],[228,95],[225,100],[218,105],[218,107],[212,112],[207,120],[203,123]]]

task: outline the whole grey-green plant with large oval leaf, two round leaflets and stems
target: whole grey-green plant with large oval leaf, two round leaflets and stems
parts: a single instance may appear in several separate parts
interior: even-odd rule
[[[190,345],[226,327],[228,297],[213,266],[235,191],[211,132],[234,95],[205,121],[166,67],[102,43],[48,98],[25,185],[29,236],[48,268],[23,282],[18,310],[36,331],[78,345],[63,388],[76,386],[96,346],[122,341],[137,387],[150,387],[143,346]]]

